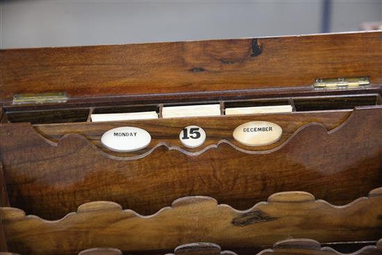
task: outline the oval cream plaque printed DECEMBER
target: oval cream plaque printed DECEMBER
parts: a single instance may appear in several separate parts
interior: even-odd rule
[[[247,122],[233,131],[233,138],[242,145],[261,146],[270,145],[281,138],[283,129],[272,122]]]

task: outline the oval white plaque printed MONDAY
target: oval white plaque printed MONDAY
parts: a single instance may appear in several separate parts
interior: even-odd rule
[[[144,129],[122,126],[103,133],[101,144],[112,151],[138,151],[149,145],[151,135]]]

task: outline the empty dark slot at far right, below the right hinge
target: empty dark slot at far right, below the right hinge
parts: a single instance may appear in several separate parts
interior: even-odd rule
[[[348,97],[304,97],[294,98],[294,106],[297,111],[310,110],[344,110],[353,109],[356,106],[375,106],[378,96],[362,95]]]

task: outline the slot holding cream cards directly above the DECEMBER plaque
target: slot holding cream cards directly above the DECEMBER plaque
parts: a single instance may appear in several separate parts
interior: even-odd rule
[[[257,113],[290,113],[293,107],[287,99],[281,100],[254,100],[254,101],[228,101],[225,102],[226,115],[242,115]]]

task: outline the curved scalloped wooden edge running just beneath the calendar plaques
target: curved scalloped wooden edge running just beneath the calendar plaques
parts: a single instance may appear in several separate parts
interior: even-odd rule
[[[331,129],[331,130],[326,129],[326,127],[319,122],[310,122],[310,123],[304,124],[304,125],[300,126],[296,131],[294,131],[294,133],[292,133],[292,135],[290,135],[290,137],[287,140],[285,140],[281,145],[278,145],[277,147],[274,147],[272,149],[263,150],[263,151],[251,151],[248,149],[242,149],[241,147],[234,145],[232,142],[230,142],[227,139],[221,139],[216,144],[208,145],[199,151],[188,151],[186,149],[183,149],[182,147],[170,146],[167,144],[167,142],[158,142],[156,145],[153,145],[153,147],[151,147],[151,149],[143,152],[142,154],[138,154],[135,156],[115,156],[112,154],[108,154],[106,151],[103,151],[102,149],[100,149],[99,147],[94,145],[92,142],[90,142],[90,140],[88,140],[88,138],[85,138],[83,135],[80,135],[78,133],[65,134],[60,138],[60,140],[58,140],[58,142],[53,142],[53,141],[49,140],[49,138],[46,138],[44,135],[42,135],[40,132],[38,132],[36,129],[34,129],[31,124],[28,124],[28,126],[30,126],[31,129],[33,130],[33,132],[36,135],[38,135],[44,142],[46,142],[48,145],[51,145],[53,147],[59,147],[60,144],[65,142],[65,140],[75,138],[75,139],[80,139],[80,140],[85,141],[88,144],[88,146],[92,147],[92,149],[97,151],[97,153],[101,154],[102,156],[106,156],[106,158],[110,158],[110,159],[117,160],[117,161],[133,161],[133,160],[137,160],[140,158],[144,158],[145,156],[149,156],[149,154],[153,153],[153,151],[158,149],[158,147],[162,147],[162,146],[166,147],[169,151],[171,151],[171,150],[180,151],[181,153],[186,154],[188,156],[199,156],[201,154],[204,154],[204,152],[208,151],[209,149],[217,149],[219,147],[219,145],[222,145],[222,144],[230,145],[233,149],[241,151],[245,154],[270,154],[270,153],[273,153],[273,152],[278,151],[279,149],[282,149],[283,147],[285,147],[285,145],[287,145],[291,140],[293,140],[294,137],[299,135],[299,133],[301,133],[301,131],[309,128],[310,126],[320,127],[324,132],[326,132],[326,135],[331,135],[332,133],[336,133],[336,132],[340,131],[342,128],[344,128],[344,126],[347,126],[349,123],[351,123],[351,121],[354,120],[354,118],[355,118],[354,116],[356,116],[358,114],[358,112],[361,110],[363,110],[363,108],[354,108],[354,110],[351,111],[351,113],[349,114],[349,116],[347,117],[346,120],[344,120],[341,124],[339,124],[334,129]],[[126,124],[127,123],[128,122],[126,122]]]

